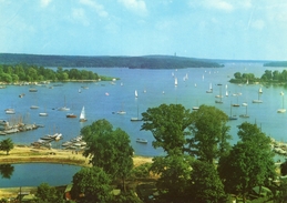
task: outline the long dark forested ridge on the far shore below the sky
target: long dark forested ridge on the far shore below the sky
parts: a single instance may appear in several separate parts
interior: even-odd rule
[[[0,53],[0,64],[28,63],[39,67],[126,67],[130,69],[183,69],[224,67],[212,60],[171,55],[79,57]]]

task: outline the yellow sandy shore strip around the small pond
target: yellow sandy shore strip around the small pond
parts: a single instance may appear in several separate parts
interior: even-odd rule
[[[152,163],[152,158],[134,156],[134,165],[141,165],[143,163]],[[0,151],[0,163],[11,164],[11,163],[35,163],[35,162],[49,162],[49,163],[64,163],[74,164],[81,166],[91,166],[89,160],[82,155],[82,152],[75,153],[71,150],[58,150],[58,149],[34,149],[27,145],[16,145],[13,150],[10,151],[9,155],[6,152]],[[32,187],[23,187],[23,190],[31,191]],[[19,189],[1,189],[0,187],[0,199],[8,196],[17,196]]]

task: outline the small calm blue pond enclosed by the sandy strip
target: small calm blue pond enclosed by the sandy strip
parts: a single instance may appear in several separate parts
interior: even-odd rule
[[[1,179],[0,187],[10,186],[39,186],[45,182],[49,185],[59,186],[69,184],[73,175],[80,171],[80,166],[50,163],[12,164],[14,171],[10,179]]]

